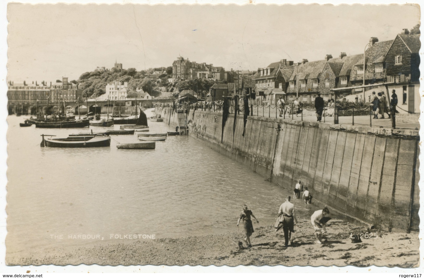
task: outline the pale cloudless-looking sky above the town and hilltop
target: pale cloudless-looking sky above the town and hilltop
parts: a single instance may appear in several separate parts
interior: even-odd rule
[[[226,70],[360,54],[420,19],[413,5],[141,5],[9,3],[8,77],[76,80],[97,66],[172,66],[181,55]]]

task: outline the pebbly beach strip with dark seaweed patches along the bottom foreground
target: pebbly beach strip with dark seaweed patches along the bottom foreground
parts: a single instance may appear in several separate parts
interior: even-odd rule
[[[7,265],[285,265],[418,267],[418,233],[377,233],[372,239],[351,243],[350,234],[367,232],[342,220],[330,220],[328,242],[318,245],[309,220],[295,225],[296,246],[284,246],[284,234],[273,226],[254,228],[251,248],[238,248],[242,232],[204,236],[152,239],[148,241],[91,242],[88,245],[51,248],[29,255],[6,255]],[[244,242],[243,242],[243,245]]]

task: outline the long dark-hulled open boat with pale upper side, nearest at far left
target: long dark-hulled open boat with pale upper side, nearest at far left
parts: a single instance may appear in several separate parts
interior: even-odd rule
[[[97,136],[81,136],[81,137],[68,137],[68,138],[55,138],[56,135],[41,135],[43,140],[40,146],[42,147],[56,147],[56,148],[90,148],[90,147],[109,147],[110,137],[97,135]],[[44,138],[50,136],[50,138]]]

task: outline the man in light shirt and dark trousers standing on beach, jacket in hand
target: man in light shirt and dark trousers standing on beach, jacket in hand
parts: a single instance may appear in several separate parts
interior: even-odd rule
[[[294,205],[290,203],[290,195],[286,197],[286,201],[281,204],[280,209],[278,210],[278,225],[276,223],[276,233],[280,228],[283,228],[284,231],[284,244],[288,245],[290,240],[290,245],[293,245],[294,239],[294,222],[296,221],[296,216],[294,215]]]

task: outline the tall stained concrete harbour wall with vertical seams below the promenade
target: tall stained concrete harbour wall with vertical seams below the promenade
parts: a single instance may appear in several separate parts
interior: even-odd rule
[[[176,113],[160,110],[176,126]],[[387,231],[418,231],[418,131],[189,111],[189,135],[282,187]],[[234,126],[234,120],[236,121]],[[222,138],[222,140],[221,140]]]

